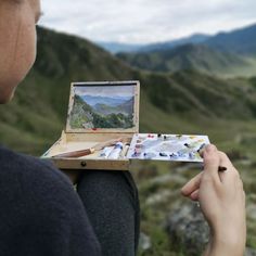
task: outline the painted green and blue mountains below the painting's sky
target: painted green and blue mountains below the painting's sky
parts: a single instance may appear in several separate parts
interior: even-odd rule
[[[71,115],[73,129],[133,127],[135,99],[126,97],[75,95]]]

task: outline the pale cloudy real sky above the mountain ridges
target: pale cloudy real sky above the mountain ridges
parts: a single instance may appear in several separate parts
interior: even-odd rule
[[[256,24],[255,0],[42,0],[39,25],[92,41],[145,44]]]

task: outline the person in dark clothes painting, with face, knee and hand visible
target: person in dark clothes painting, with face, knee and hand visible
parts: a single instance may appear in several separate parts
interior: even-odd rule
[[[39,0],[0,1],[0,103],[12,99],[34,64],[39,16]],[[241,256],[245,243],[242,182],[215,146],[206,148],[203,157],[205,171],[182,193],[200,201],[210,226],[205,255]],[[227,171],[218,172],[219,166]],[[135,255],[139,206],[129,172],[85,172],[78,193],[81,200],[66,177],[48,163],[0,146],[0,255]]]

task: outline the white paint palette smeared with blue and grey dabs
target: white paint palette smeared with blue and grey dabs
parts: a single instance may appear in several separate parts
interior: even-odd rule
[[[207,136],[136,133],[127,157],[177,162],[203,162],[200,150],[209,144]]]

